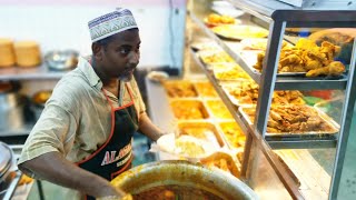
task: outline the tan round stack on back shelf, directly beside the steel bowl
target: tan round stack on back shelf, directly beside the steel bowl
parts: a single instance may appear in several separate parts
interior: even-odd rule
[[[14,43],[16,63],[18,67],[36,67],[41,63],[40,48],[33,41]]]

